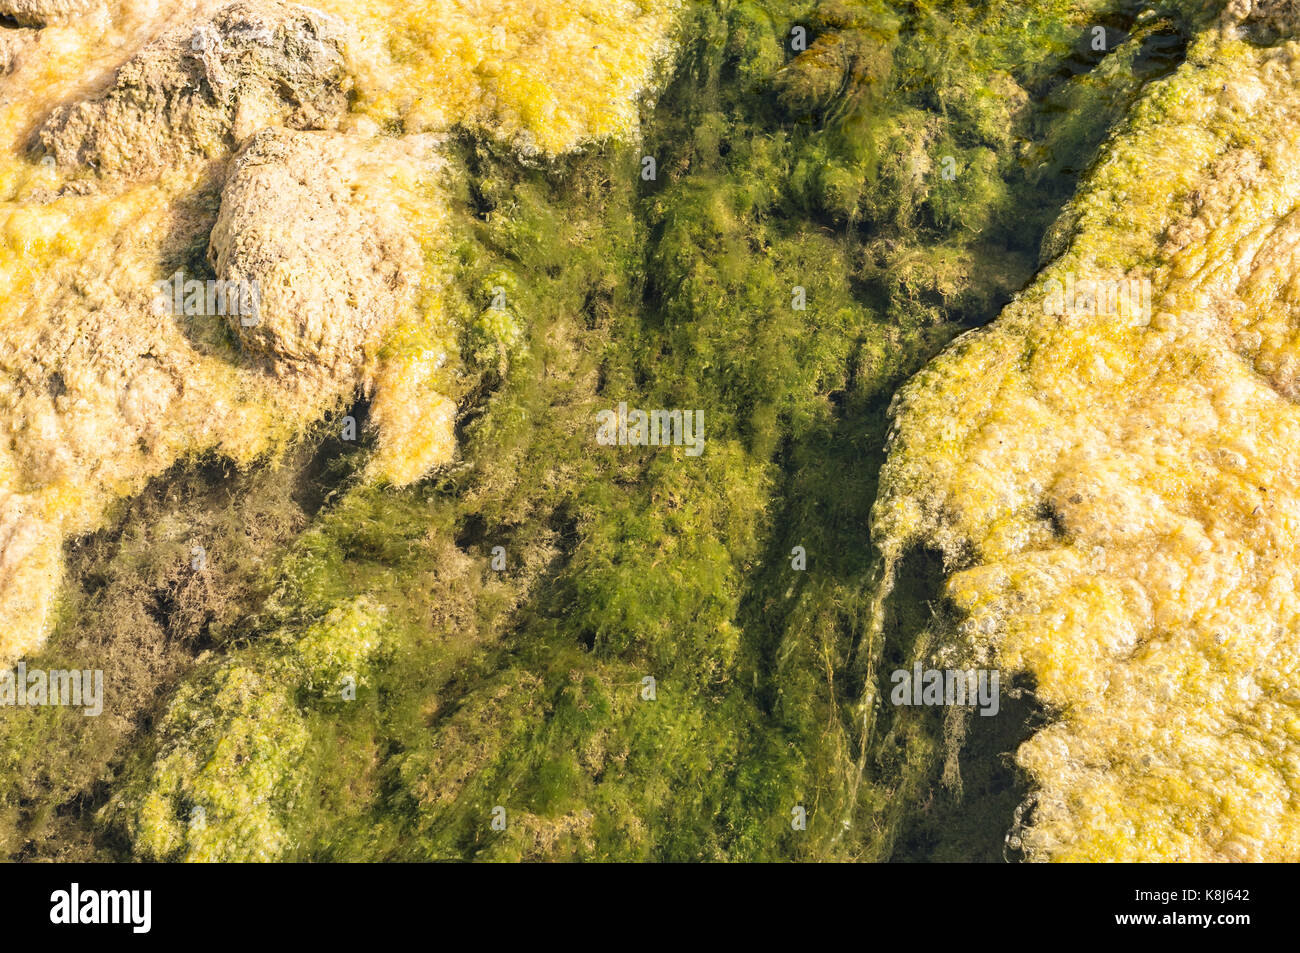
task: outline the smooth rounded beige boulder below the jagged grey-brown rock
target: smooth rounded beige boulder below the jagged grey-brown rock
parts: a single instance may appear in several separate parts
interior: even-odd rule
[[[208,257],[221,280],[256,289],[255,321],[229,321],[280,374],[355,376],[412,306],[420,250],[382,190],[365,189],[373,166],[350,137],[277,129],[231,168]]]

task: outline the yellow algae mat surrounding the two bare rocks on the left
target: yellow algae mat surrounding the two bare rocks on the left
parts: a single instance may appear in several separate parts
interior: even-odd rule
[[[632,134],[637,98],[667,51],[679,9],[506,0],[306,5],[346,27],[360,94],[346,124],[351,151],[382,153],[359,163],[329,202],[372,221],[391,218],[424,263],[410,276],[417,294],[382,329],[389,343],[367,338],[365,360],[343,373],[352,365],[268,368],[264,355],[202,326],[214,316],[196,325],[160,308],[156,283],[213,226],[205,202],[230,170],[228,143],[196,143],[192,161],[148,181],[55,168],[31,151],[52,111],[101,95],[160,34],[199,30],[224,7],[110,3],[42,29],[0,77],[0,659],[42,644],[62,541],[98,527],[109,503],[179,459],[214,449],[248,464],[363,390],[374,397],[378,428],[373,478],[411,482],[448,462],[455,403],[447,385],[456,361],[441,296],[448,207],[445,161],[429,134],[464,127],[545,155]],[[230,125],[237,146],[260,131],[256,108],[244,105]],[[135,108],[130,98],[125,108]],[[381,124],[402,138],[381,134]],[[130,143],[114,142],[127,155]],[[283,274],[311,264],[286,263]],[[315,386],[322,380],[328,386]]]

